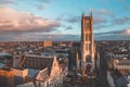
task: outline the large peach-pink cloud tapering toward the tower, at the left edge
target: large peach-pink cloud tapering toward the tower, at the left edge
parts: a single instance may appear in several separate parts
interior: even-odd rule
[[[61,23],[56,21],[42,18],[28,12],[0,8],[0,32],[52,32],[60,26]]]

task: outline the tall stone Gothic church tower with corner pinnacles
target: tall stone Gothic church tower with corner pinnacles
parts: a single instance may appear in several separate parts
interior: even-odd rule
[[[93,17],[92,12],[89,16],[81,17],[81,69],[90,67],[94,70],[94,39],[93,39]]]

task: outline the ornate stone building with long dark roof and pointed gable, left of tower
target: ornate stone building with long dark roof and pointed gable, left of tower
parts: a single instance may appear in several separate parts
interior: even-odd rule
[[[66,76],[67,60],[58,63],[57,58],[42,55],[26,55],[22,61],[21,67],[28,69],[26,76],[27,83],[32,82],[37,87],[57,87],[63,85],[63,79]],[[25,85],[23,84],[23,86]],[[32,85],[34,86],[34,85]],[[32,87],[29,86],[28,87]]]

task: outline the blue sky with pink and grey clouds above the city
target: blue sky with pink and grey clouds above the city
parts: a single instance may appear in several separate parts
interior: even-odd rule
[[[95,40],[130,40],[130,0],[0,0],[0,41],[80,40],[91,11]]]

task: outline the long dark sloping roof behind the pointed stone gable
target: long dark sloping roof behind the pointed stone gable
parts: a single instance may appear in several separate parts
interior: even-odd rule
[[[26,55],[21,64],[25,69],[43,70],[48,67],[49,74],[53,64],[53,58],[42,55]]]

